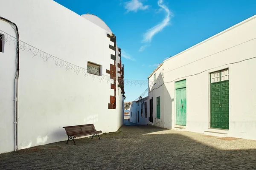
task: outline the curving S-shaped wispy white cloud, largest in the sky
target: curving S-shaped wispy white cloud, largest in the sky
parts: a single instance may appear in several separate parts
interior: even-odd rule
[[[143,42],[151,42],[152,37],[155,34],[157,34],[158,32],[160,32],[161,30],[163,30],[163,28],[168,26],[171,17],[173,17],[172,12],[167,8],[167,6],[163,5],[163,0],[158,0],[157,4],[158,4],[158,6],[160,6],[160,8],[162,8],[164,11],[166,11],[166,17],[163,19],[163,21],[161,23],[157,24],[156,26],[154,26],[146,31],[146,33],[144,34],[144,37],[143,37]]]

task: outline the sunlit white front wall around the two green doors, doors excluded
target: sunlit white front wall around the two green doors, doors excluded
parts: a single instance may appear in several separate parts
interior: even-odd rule
[[[256,15],[165,60],[166,123],[175,126],[175,82],[186,79],[186,130],[204,133],[210,127],[209,73],[228,68],[229,130],[220,131],[256,140],[256,59],[249,59],[256,57],[255,47]]]

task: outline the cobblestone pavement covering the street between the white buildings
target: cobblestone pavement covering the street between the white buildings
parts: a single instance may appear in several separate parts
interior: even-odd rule
[[[1,170],[256,169],[256,141],[154,126],[122,126],[101,140],[76,139],[0,154]]]

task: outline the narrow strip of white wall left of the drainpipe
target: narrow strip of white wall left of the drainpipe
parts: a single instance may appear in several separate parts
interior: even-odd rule
[[[0,14],[1,16],[1,14]],[[9,30],[16,36],[14,29],[0,21],[0,29]],[[16,72],[16,46],[4,43],[4,51],[0,52],[0,153],[12,151],[14,148],[14,82]],[[12,43],[13,44],[13,43]]]

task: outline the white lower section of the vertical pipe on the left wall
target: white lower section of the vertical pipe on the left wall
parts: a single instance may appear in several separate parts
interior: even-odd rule
[[[14,82],[14,147],[18,150],[18,79]]]

